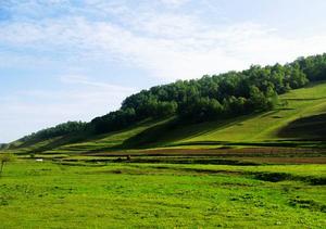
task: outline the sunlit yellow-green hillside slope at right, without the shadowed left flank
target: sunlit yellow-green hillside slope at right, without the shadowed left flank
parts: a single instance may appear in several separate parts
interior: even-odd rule
[[[208,130],[205,133],[188,137],[178,142],[199,142],[199,141],[229,141],[229,142],[260,142],[260,141],[276,141],[276,140],[315,140],[323,138],[323,131],[314,132],[312,128],[316,124],[316,118],[310,118],[319,115],[319,128],[325,128],[326,122],[323,119],[326,112],[326,84],[313,85],[306,88],[292,90],[289,93],[280,97],[280,104],[286,104],[284,107],[278,107],[275,111],[263,114],[241,117],[229,120],[227,123],[212,123],[216,128]],[[290,126],[296,124],[296,120],[304,118],[306,133],[298,128]],[[299,122],[300,123],[300,122]],[[199,125],[198,129],[205,129]],[[288,130],[291,129],[291,135]],[[286,131],[285,131],[285,130]],[[298,132],[296,132],[298,130]],[[312,135],[313,133],[313,135]],[[319,136],[318,136],[319,135]]]

